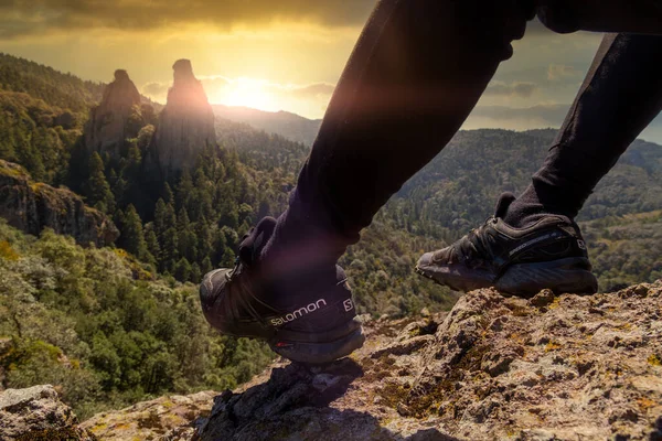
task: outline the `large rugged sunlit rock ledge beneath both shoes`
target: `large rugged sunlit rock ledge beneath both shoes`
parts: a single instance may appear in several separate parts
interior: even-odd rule
[[[662,281],[479,290],[446,316],[366,327],[350,358],[278,363],[216,397],[194,439],[662,440]]]

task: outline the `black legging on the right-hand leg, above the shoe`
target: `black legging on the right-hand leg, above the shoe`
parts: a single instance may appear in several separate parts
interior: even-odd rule
[[[512,206],[575,217],[597,183],[662,109],[662,35],[605,37],[543,168]]]

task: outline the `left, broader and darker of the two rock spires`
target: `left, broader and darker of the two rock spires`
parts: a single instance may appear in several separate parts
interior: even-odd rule
[[[141,126],[140,93],[126,71],[115,71],[115,80],[106,86],[102,103],[90,111],[85,146],[89,151],[119,158],[125,139],[135,137]]]

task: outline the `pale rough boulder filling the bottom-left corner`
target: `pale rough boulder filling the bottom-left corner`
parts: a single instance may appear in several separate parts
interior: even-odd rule
[[[0,439],[6,441],[94,441],[52,386],[0,392]]]

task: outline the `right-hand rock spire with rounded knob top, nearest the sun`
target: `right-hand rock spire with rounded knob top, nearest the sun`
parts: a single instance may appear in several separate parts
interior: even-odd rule
[[[172,66],[174,82],[148,153],[148,164],[163,178],[191,168],[200,151],[216,144],[214,112],[189,60]]]

